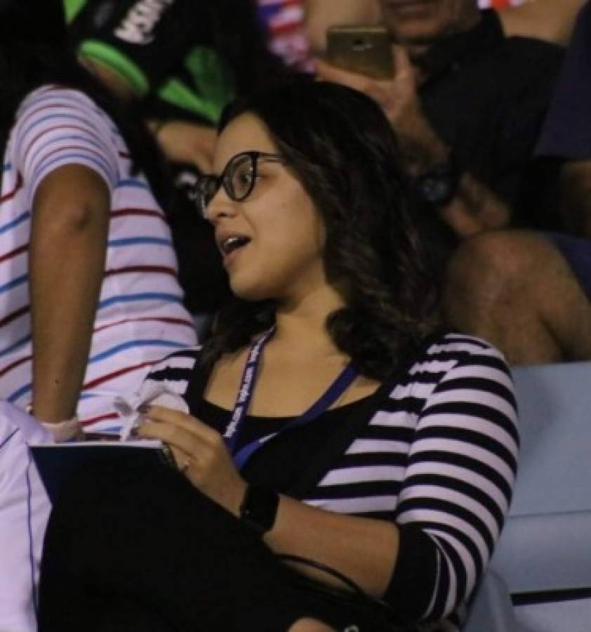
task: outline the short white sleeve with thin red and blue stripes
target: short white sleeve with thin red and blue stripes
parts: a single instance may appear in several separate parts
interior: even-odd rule
[[[84,94],[41,88],[22,103],[13,131],[17,168],[32,202],[41,181],[54,169],[79,164],[98,173],[109,190],[119,181],[118,135],[106,115]]]

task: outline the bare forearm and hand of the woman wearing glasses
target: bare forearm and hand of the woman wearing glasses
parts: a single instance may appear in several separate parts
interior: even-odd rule
[[[246,482],[234,468],[221,435],[171,409],[152,406],[147,416],[150,422],[140,428],[140,435],[171,445],[179,466],[190,459],[186,473],[195,487],[238,517]],[[376,597],[387,588],[398,552],[398,530],[392,523],[322,511],[288,496],[281,496],[265,541],[276,553],[299,555],[338,570]],[[299,565],[298,570],[344,587],[324,572]]]

